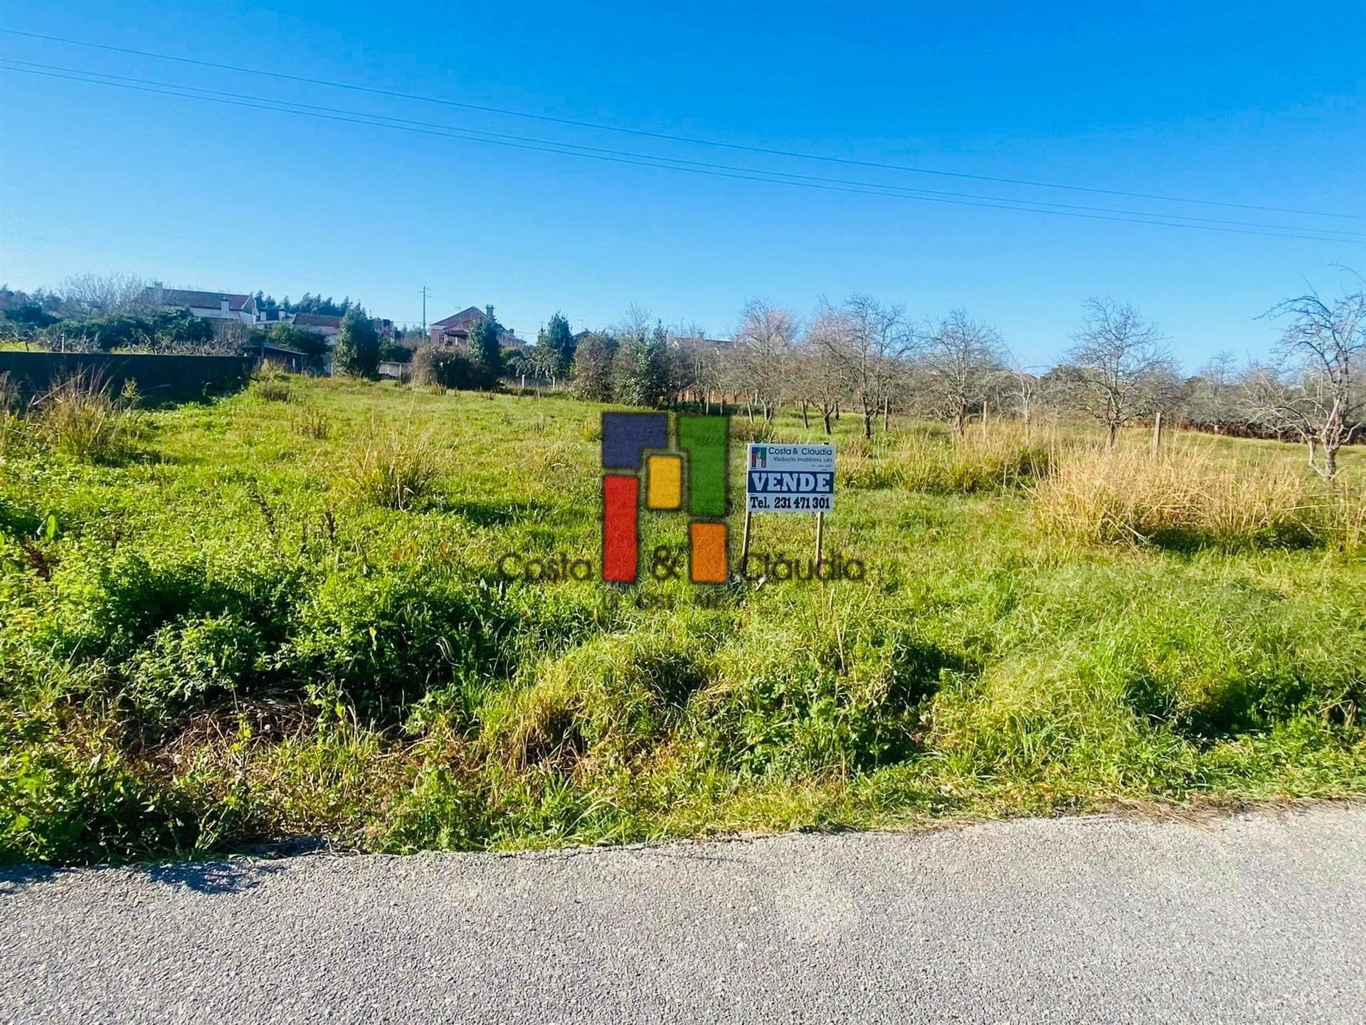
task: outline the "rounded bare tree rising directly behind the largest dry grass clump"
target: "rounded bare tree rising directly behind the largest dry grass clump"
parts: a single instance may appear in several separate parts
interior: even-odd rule
[[[1157,325],[1131,305],[1091,298],[1083,309],[1086,320],[1068,358],[1078,372],[1078,398],[1105,425],[1113,448],[1119,429],[1154,407],[1171,353]]]

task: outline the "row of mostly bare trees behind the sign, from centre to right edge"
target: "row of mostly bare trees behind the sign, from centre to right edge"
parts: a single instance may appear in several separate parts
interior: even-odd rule
[[[567,323],[553,324],[523,366],[550,380],[567,373],[593,400],[719,403],[723,411],[738,403],[764,420],[792,407],[826,433],[852,413],[869,437],[892,414],[943,420],[959,433],[974,417],[1085,414],[1113,446],[1120,428],[1160,414],[1205,430],[1299,440],[1310,466],[1332,478],[1340,448],[1366,433],[1366,288],[1340,299],[1306,292],[1264,316],[1284,325],[1269,358],[1239,365],[1220,353],[1194,376],[1179,372],[1154,323],[1108,298],[1085,303],[1063,362],[1035,368],[966,310],[912,323],[904,308],[858,294],[821,302],[805,321],[751,299],[728,342],[665,328],[634,308],[601,332],[572,336]]]

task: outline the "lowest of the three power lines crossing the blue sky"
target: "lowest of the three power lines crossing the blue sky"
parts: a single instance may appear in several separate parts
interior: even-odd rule
[[[11,62],[11,63],[29,63],[29,62]],[[49,66],[34,66],[34,67],[45,68]],[[938,204],[951,204],[959,206],[978,206],[986,209],[1003,209],[1003,210],[1015,210],[1023,213],[1042,213],[1059,217],[1082,217],[1087,220],[1105,220],[1121,224],[1152,224],[1157,227],[1191,228],[1197,231],[1221,231],[1221,232],[1233,232],[1240,235],[1262,235],[1269,238],[1299,239],[1309,242],[1339,242],[1350,245],[1362,243],[1362,241],[1356,238],[1339,238],[1340,235],[1361,234],[1361,232],[1347,232],[1340,228],[1295,227],[1291,228],[1290,231],[1262,231],[1261,230],[1262,226],[1246,224],[1242,221],[1217,221],[1213,224],[1183,223],[1187,220],[1195,220],[1195,221],[1213,220],[1213,219],[1190,217],[1188,215],[1149,215],[1142,212],[1131,212],[1132,216],[1119,216],[1116,213],[1083,212],[1096,208],[1041,209],[1040,206],[1063,206],[1063,205],[1040,204],[1038,201],[1030,201],[1030,200],[1018,201],[1018,200],[997,198],[997,197],[949,198],[949,197],[963,197],[963,194],[958,193],[929,194],[922,190],[910,190],[903,186],[885,186],[869,182],[850,182],[847,184],[822,183],[822,182],[843,182],[846,179],[788,180],[794,178],[811,179],[813,176],[809,175],[799,176],[799,175],[792,175],[790,172],[762,171],[755,168],[732,168],[725,164],[706,164],[703,161],[680,160],[678,157],[657,157],[639,153],[627,153],[622,150],[602,150],[589,146],[576,146],[574,144],[549,142],[545,139],[529,139],[525,137],[497,135],[494,133],[482,133],[471,128],[455,128],[451,126],[422,127],[426,126],[428,123],[408,122],[407,119],[391,118],[388,115],[370,115],[357,111],[343,111],[337,108],[317,107],[313,104],[301,104],[291,100],[275,100],[270,97],[253,97],[242,93],[223,93],[217,90],[205,90],[198,86],[180,86],[180,85],[158,83],[158,82],[149,82],[148,85],[135,85],[135,82],[146,82],[146,79],[127,79],[124,77],[104,75],[102,72],[78,71],[75,74],[64,74],[59,71],[33,70],[26,67],[10,67],[7,64],[0,64],[0,70],[11,71],[14,74],[41,75],[45,78],[59,78],[72,82],[83,82],[86,85],[102,85],[102,86],[127,89],[142,93],[172,96],[182,100],[198,100],[202,102],[217,102],[232,107],[246,107],[251,109],[273,111],[276,113],[295,113],[305,118],[317,118],[322,120],[344,122],[351,124],[365,124],[370,127],[391,128],[393,131],[408,131],[423,135],[434,135],[440,138],[454,138],[467,142],[479,142],[485,145],[511,146],[514,149],[535,150],[544,153],[553,153],[559,156],[575,156],[586,160],[601,160],[616,164],[631,164],[637,167],[652,167],[667,171],[682,171],[687,174],[708,175],[713,178],[731,178],[739,180],[762,182],[769,184],[787,184],[800,189],[816,189],[821,191],[881,195],[888,198],[911,200],[917,202],[938,202]],[[96,78],[93,75],[101,75],[101,77]],[[102,79],[122,79],[122,81],[102,81]],[[1026,206],[1022,204],[1033,204],[1033,205]],[[1265,226],[1265,227],[1273,227],[1273,226]],[[1320,232],[1320,234],[1291,234],[1291,232]],[[1332,232],[1332,234],[1322,234],[1322,232]]]

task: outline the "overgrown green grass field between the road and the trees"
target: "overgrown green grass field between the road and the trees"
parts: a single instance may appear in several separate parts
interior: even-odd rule
[[[600,411],[277,377],[98,435],[7,418],[0,857],[1366,791],[1366,452],[1328,492],[1292,446],[847,418],[826,551],[862,581],[500,581],[597,564]],[[754,549],[811,540],[766,517]]]

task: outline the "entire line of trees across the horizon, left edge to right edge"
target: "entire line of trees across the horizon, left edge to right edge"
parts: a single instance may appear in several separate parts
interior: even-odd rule
[[[1358,286],[1366,286],[1359,276]],[[266,301],[262,298],[262,301]],[[358,305],[305,295],[292,309],[342,310],[336,364],[374,376],[395,358]],[[23,338],[60,335],[63,344],[153,351],[250,350],[262,340],[214,331],[187,312],[146,308],[134,277],[71,277],[60,291],[31,295],[0,287],[0,329]],[[1298,439],[1324,477],[1337,473],[1337,452],[1366,433],[1362,362],[1366,359],[1366,287],[1339,299],[1315,292],[1288,298],[1266,314],[1284,324],[1268,359],[1239,365],[1221,353],[1195,376],[1182,376],[1169,339],[1134,306],[1089,299],[1065,358],[1027,366],[990,324],[952,310],[911,321],[899,305],[855,294],[821,302],[807,318],[751,299],[734,338],[714,342],[695,325],[665,328],[631,308],[605,331],[570,331],[556,313],[526,353],[503,353],[501,328],[489,318],[460,350],[419,350],[414,376],[445,387],[493,388],[508,374],[561,380],[583,398],[663,407],[695,402],[705,409],[743,405],[770,420],[781,406],[800,407],[831,432],[832,420],[858,415],[866,436],[881,420],[910,414],[944,420],[963,432],[971,417],[1015,415],[1026,422],[1085,413],[1113,444],[1126,424],[1161,414],[1168,421],[1223,433]],[[277,324],[265,340],[320,354],[325,343]],[[288,336],[285,336],[288,335]],[[403,348],[389,343],[388,348]]]

